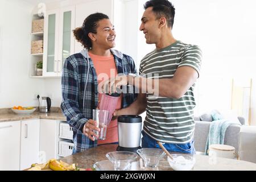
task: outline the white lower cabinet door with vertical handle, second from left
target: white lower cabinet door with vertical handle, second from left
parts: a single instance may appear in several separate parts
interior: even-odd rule
[[[40,119],[21,121],[20,170],[31,167],[39,160]]]

